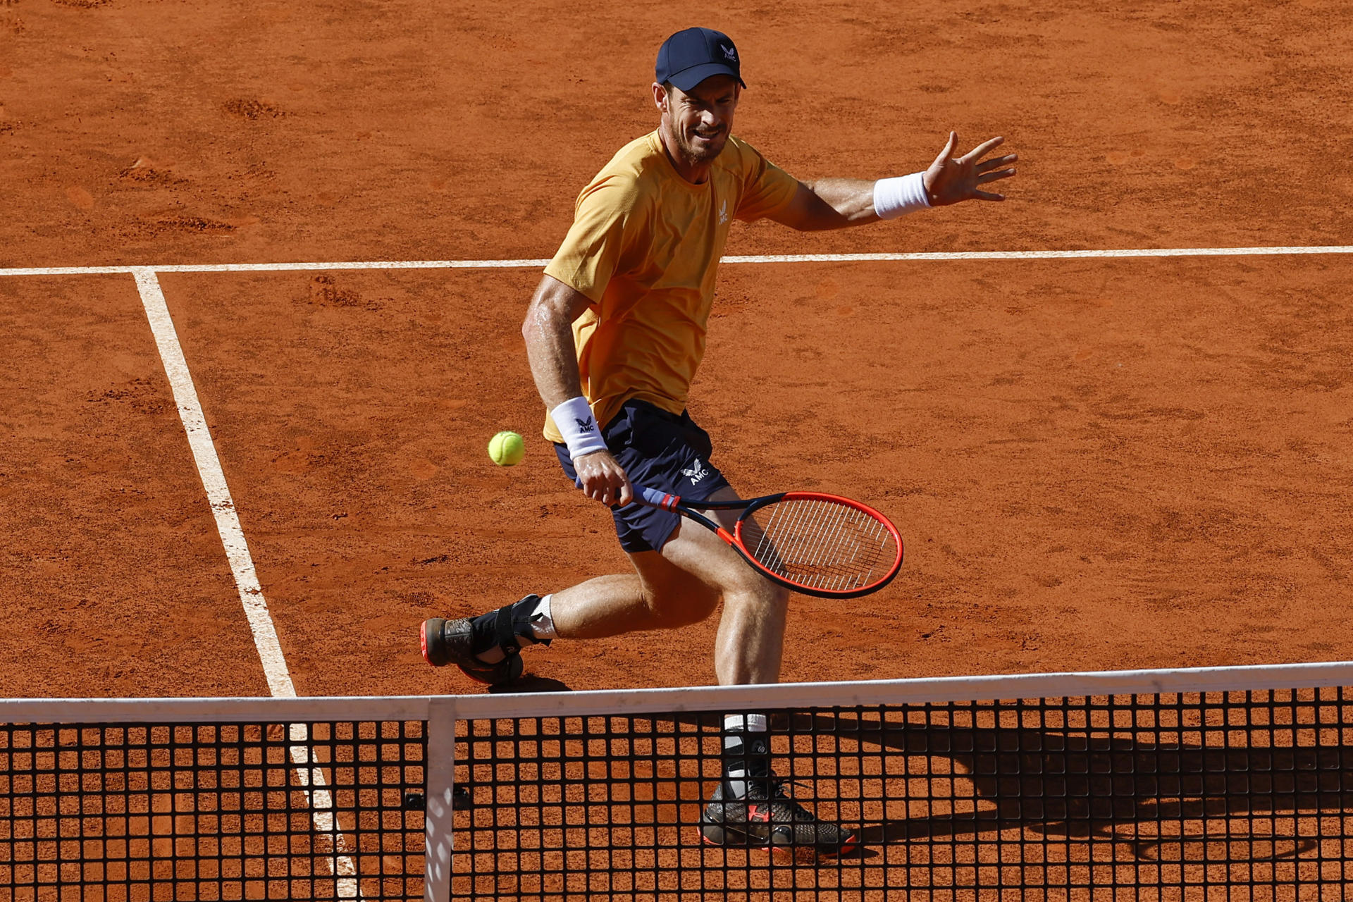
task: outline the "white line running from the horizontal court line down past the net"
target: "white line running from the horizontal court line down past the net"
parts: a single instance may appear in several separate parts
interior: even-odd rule
[[[258,659],[262,661],[262,672],[268,679],[268,691],[277,698],[296,698],[296,687],[291,682],[287,671],[287,659],[281,653],[281,644],[277,641],[277,629],[273,626],[272,615],[268,613],[268,602],[262,596],[262,587],[254,572],[253,559],[249,556],[249,545],[245,542],[245,533],[239,526],[239,517],[235,514],[235,503],[230,498],[230,488],[226,485],[226,473],[221,468],[221,458],[216,448],[211,444],[211,431],[207,429],[207,418],[202,411],[202,402],[198,399],[198,389],[192,384],[192,375],[188,372],[188,361],[183,356],[183,346],[179,343],[179,334],[169,316],[169,307],[165,304],[164,292],[160,289],[160,280],[154,270],[133,269],[137,279],[137,289],[141,292],[141,304],[146,310],[146,319],[150,321],[150,331],[154,333],[156,346],[160,349],[160,358],[164,362],[165,375],[169,377],[169,388],[173,391],[175,406],[179,408],[179,419],[183,421],[184,431],[188,433],[188,448],[192,449],[192,460],[198,465],[202,476],[202,485],[207,490],[207,500],[211,503],[211,513],[216,518],[216,533],[221,544],[226,549],[226,559],[230,561],[230,573],[235,579],[239,591],[239,602],[245,607],[245,617],[249,619],[249,629],[253,633],[254,648],[258,649]],[[288,738],[291,740],[290,753],[296,776],[306,794],[306,801],[311,809],[311,821],[315,832],[329,840],[333,855],[329,865],[333,868],[337,880],[337,893],[344,899],[360,899],[357,886],[357,864],[349,855],[348,842],[338,829],[334,815],[333,794],[325,783],[323,771],[319,767],[308,767],[310,738],[308,728],[304,723],[291,723]]]

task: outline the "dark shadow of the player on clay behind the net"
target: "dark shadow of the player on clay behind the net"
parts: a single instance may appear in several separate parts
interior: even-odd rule
[[[701,715],[674,719],[717,729],[717,719]],[[1238,737],[1249,728],[1208,728],[1211,736],[1229,737],[1230,744],[1222,746],[1141,741],[1124,736],[1132,728],[1112,733],[1104,729],[963,728],[801,711],[773,714],[773,729],[777,721],[781,732],[817,737],[816,744],[831,737],[829,742],[844,759],[854,757],[855,749],[865,756],[870,756],[871,749],[888,749],[912,761],[897,772],[889,771],[886,778],[863,778],[884,779],[886,786],[905,787],[911,792],[889,794],[892,801],[921,803],[921,807],[935,803],[951,807],[957,802],[954,807],[966,809],[863,824],[862,847],[974,838],[1012,828],[1066,840],[1119,838],[1124,826],[1146,824],[1151,829],[1145,838],[1137,840],[1135,830],[1122,838],[1132,842],[1138,859],[1150,860],[1158,853],[1157,847],[1169,838],[1158,836],[1162,822],[1353,813],[1353,748],[1243,745]],[[1281,733],[1292,728],[1256,729]],[[1339,728],[1331,729],[1338,740]],[[947,764],[936,765],[938,760],[947,760]],[[831,782],[833,778],[817,779]],[[847,784],[859,780],[856,776],[840,779]],[[971,784],[970,791],[965,783]],[[1266,852],[1258,857],[1295,857],[1316,844],[1308,837],[1279,838],[1281,841],[1265,838]],[[1249,860],[1256,857],[1252,851]]]

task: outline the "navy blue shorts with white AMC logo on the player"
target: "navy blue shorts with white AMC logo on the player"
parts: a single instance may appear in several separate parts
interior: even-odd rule
[[[686,411],[678,417],[644,400],[628,400],[601,434],[632,485],[695,499],[728,487],[724,475],[709,462],[709,433],[691,422]],[[556,444],[555,453],[576,485],[578,472],[568,446]],[[681,514],[643,504],[626,504],[612,515],[620,546],[626,552],[660,552],[681,522]]]

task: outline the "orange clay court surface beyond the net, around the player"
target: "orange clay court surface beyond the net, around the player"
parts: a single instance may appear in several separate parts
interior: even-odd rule
[[[728,31],[804,180],[1020,154],[1004,204],[732,254],[1349,245],[1334,3],[0,0],[0,268],[534,260]],[[1341,49],[1335,51],[1334,49]],[[747,494],[877,504],[907,564],[794,603],[786,680],[1319,661],[1348,637],[1348,254],[725,264],[691,412]],[[467,692],[417,627],[620,572],[518,327],[537,266],[162,273],[298,692]],[[495,468],[499,429],[526,461]],[[133,276],[0,277],[0,692],[268,686]],[[713,682],[713,623],[532,652]]]

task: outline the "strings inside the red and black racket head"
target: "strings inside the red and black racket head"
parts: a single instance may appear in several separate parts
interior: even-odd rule
[[[897,541],[870,514],[825,498],[786,498],[743,521],[743,546],[766,569],[805,588],[846,592],[882,577]]]

